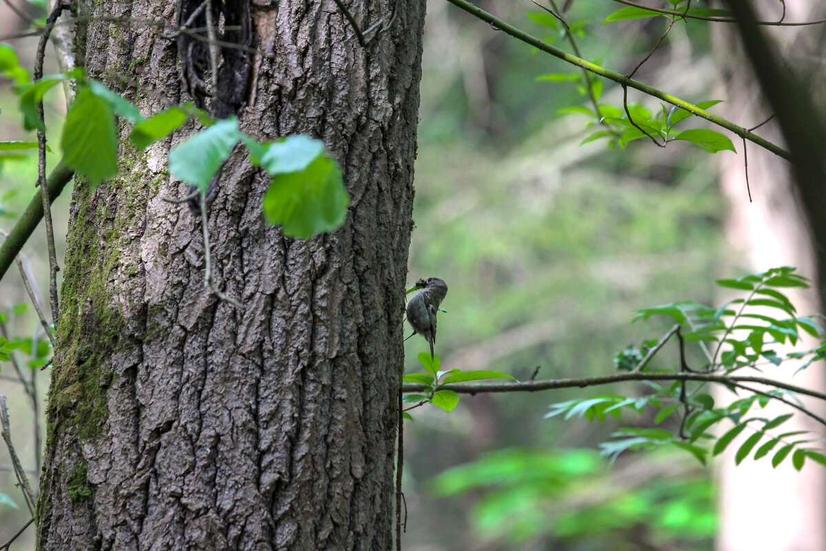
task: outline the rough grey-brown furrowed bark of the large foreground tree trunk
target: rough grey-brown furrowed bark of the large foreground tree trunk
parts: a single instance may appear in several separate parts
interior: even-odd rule
[[[393,2],[346,3],[367,27]],[[99,2],[81,37],[89,74],[145,114],[186,99],[176,45],[140,22],[174,21],[170,4]],[[212,257],[243,311],[204,289],[198,221],[161,198],[186,192],[165,167],[188,132],[76,185],[40,549],[391,549],[425,15],[396,4],[362,48],[333,2],[250,2],[263,55],[242,129],[323,138],[351,207],[334,234],[284,238],[261,216],[267,178],[230,159]],[[132,19],[94,20],[113,14]]]

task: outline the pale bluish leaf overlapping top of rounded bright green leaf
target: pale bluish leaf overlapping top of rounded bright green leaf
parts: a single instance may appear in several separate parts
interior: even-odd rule
[[[303,134],[263,144],[244,136],[244,145],[253,164],[271,176],[304,171],[324,155],[324,142]]]

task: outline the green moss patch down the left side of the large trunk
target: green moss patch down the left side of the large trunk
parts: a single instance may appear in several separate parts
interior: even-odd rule
[[[136,205],[146,183],[130,173],[92,192],[83,178],[75,186],[72,230],[67,243],[61,315],[55,347],[55,373],[48,405],[47,445],[55,430],[74,427],[80,439],[95,439],[109,417],[107,394],[114,374],[111,358],[126,321],[112,300],[112,288],[129,272],[121,255],[126,229],[142,216]],[[124,201],[124,197],[128,197]]]

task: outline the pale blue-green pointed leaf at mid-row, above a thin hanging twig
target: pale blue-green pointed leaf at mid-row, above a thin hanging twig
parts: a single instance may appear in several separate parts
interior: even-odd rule
[[[206,193],[212,178],[240,139],[235,116],[218,121],[169,151],[169,172]]]

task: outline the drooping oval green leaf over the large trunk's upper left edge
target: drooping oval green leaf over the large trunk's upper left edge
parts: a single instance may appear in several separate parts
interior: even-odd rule
[[[112,106],[83,88],[66,113],[60,139],[63,161],[96,186],[117,173],[117,135]]]

